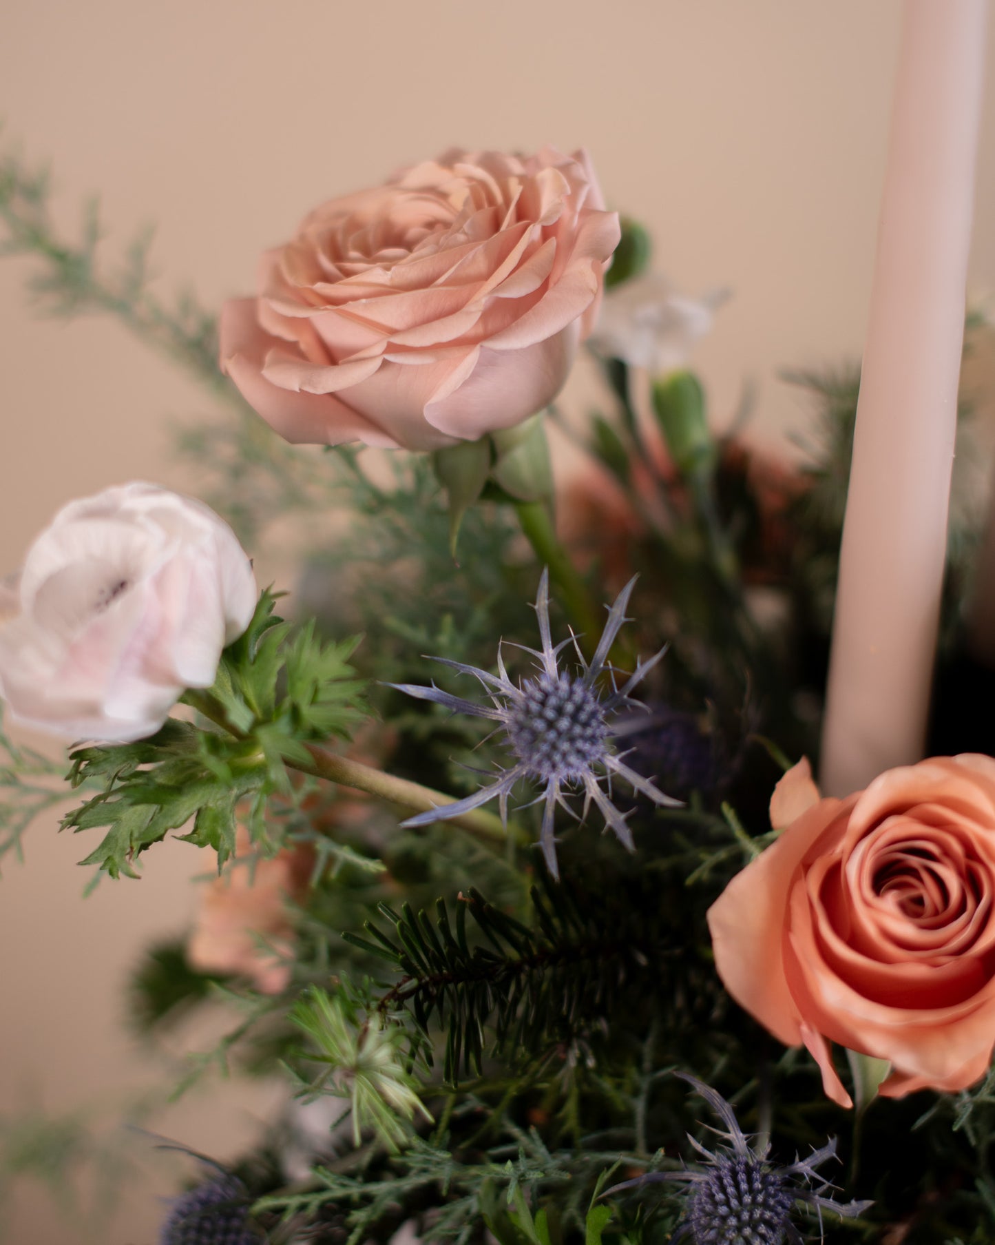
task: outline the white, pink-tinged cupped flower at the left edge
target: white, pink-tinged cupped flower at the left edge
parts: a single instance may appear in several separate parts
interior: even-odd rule
[[[63,737],[154,735],[185,688],[214,682],[257,595],[234,532],[200,502],[141,482],[70,502],[29,549],[16,609],[0,610],[0,696],[15,721]]]

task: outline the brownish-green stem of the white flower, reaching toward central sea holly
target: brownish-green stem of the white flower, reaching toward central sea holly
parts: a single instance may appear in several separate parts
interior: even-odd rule
[[[223,706],[214,700],[210,692],[188,691],[183,696],[183,702],[216,726],[223,727],[229,735],[234,735],[235,738],[245,738],[245,732],[231,726]],[[410,813],[428,813],[433,808],[443,808],[455,803],[451,796],[433,791],[432,787],[423,787],[407,778],[397,778],[382,769],[374,769],[373,766],[364,766],[361,761],[349,761],[348,757],[327,752],[317,745],[308,743],[305,747],[311,754],[310,762],[285,757],[284,763],[300,773],[311,774],[312,778],[323,778],[342,787],[364,791],[369,796],[376,796],[389,804],[397,804],[398,808]],[[449,820],[453,825],[459,825],[460,829],[468,830],[488,843],[505,843],[509,835],[521,844],[531,842],[522,828],[512,822],[509,822],[507,828],[505,828],[500,817],[486,813],[481,808],[470,809],[469,813],[460,813],[456,817],[442,818],[442,820]]]

